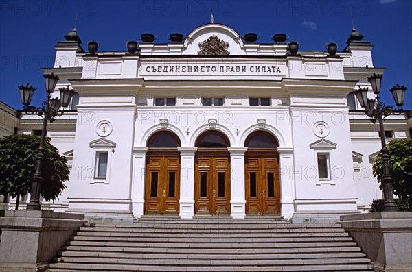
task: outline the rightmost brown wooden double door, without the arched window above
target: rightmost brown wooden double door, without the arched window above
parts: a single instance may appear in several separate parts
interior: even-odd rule
[[[247,155],[245,168],[247,214],[278,214],[280,184],[277,158]]]

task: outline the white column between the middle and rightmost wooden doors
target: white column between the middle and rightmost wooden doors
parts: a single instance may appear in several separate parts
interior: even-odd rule
[[[228,147],[230,152],[231,184],[230,204],[231,217],[244,218],[246,216],[244,199],[244,152],[247,147]]]

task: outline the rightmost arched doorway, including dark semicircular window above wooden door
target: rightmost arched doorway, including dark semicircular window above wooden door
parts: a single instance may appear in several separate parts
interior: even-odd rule
[[[245,141],[245,199],[247,214],[279,214],[280,182],[277,140],[255,132]]]

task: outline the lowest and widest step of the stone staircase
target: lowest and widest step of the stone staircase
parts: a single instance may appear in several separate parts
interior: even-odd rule
[[[62,269],[62,270],[60,270]],[[329,265],[288,265],[284,267],[255,267],[255,266],[245,266],[245,267],[182,267],[182,266],[156,266],[156,265],[124,265],[124,264],[69,264],[69,263],[58,263],[50,264],[50,270],[52,272],[56,271],[216,271],[216,272],[264,272],[264,271],[371,271],[368,264],[329,264]]]

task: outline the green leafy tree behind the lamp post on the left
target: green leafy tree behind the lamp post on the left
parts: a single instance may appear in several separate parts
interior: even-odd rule
[[[36,171],[40,136],[14,134],[0,138],[0,194],[17,197],[30,192],[32,176]],[[69,169],[65,156],[45,138],[45,156],[42,167],[43,182],[40,193],[46,201],[55,200],[66,188]],[[18,207],[16,203],[16,208]]]

